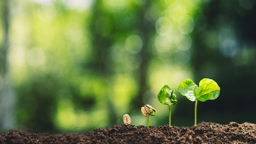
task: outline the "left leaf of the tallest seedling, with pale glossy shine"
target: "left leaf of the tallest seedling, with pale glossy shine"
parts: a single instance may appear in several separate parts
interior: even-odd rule
[[[197,88],[197,85],[191,79],[185,79],[180,83],[178,92],[186,96],[188,100],[196,101],[195,88]]]

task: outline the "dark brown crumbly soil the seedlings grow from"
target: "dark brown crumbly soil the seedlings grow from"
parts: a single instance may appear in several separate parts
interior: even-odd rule
[[[197,127],[116,125],[85,133],[0,133],[0,143],[256,143],[256,124],[202,122]]]

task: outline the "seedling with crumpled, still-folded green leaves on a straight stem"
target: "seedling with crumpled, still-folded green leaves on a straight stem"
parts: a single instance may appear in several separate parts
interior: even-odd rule
[[[157,100],[163,105],[169,105],[169,128],[171,127],[171,105],[177,103],[175,91],[168,85],[164,85],[157,95]]]

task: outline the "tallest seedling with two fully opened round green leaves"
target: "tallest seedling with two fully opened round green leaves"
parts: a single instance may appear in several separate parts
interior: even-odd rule
[[[196,126],[196,106],[197,100],[206,101],[214,100],[220,95],[220,87],[218,84],[209,78],[204,78],[197,86],[191,79],[185,79],[180,83],[178,91],[186,96],[188,100],[196,101],[195,104],[195,126]]]

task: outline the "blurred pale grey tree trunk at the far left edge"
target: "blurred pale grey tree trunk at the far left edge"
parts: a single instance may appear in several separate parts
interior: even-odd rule
[[[1,91],[1,128],[6,130],[13,127],[13,95],[10,86],[7,83],[7,51],[9,48],[9,0],[2,1],[2,21],[4,29],[4,38],[2,46],[2,78],[3,78],[3,88]]]

